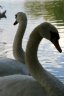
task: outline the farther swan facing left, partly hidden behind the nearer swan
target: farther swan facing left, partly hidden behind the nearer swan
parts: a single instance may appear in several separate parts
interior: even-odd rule
[[[10,74],[19,74],[19,73],[29,74],[27,70],[27,66],[25,65],[24,51],[21,45],[26,24],[27,24],[27,18],[25,14],[22,14],[21,16],[18,15],[18,17],[20,18],[16,22],[19,23],[19,27],[13,43],[13,54],[16,60],[9,59],[9,58],[0,58],[0,76],[10,75]],[[21,20],[24,21],[25,25],[23,21],[21,22]]]

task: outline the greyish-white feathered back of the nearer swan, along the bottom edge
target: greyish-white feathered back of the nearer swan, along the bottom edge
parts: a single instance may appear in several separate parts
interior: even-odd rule
[[[31,76],[0,77],[0,96],[47,96],[43,87]]]

